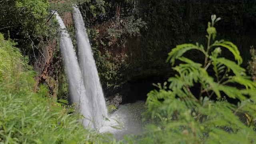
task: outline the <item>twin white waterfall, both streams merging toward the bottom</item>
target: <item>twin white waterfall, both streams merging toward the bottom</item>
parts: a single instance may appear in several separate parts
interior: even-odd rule
[[[70,96],[80,114],[85,117],[82,120],[83,125],[101,128],[104,125],[104,116],[107,116],[105,99],[82,15],[78,8],[73,8],[79,62],[66,26],[56,14],[62,29],[60,49],[68,72]]]

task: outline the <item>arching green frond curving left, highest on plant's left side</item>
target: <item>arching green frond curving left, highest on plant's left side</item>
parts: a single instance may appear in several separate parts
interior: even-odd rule
[[[169,62],[172,64],[172,66],[175,63],[175,60],[180,58],[185,52],[187,52],[188,50],[200,50],[201,52],[204,53],[204,47],[201,45],[199,46],[199,44],[197,43],[196,45],[194,44],[181,44],[176,46],[176,48],[173,48],[171,52],[168,53],[168,58],[166,60],[166,62]]]

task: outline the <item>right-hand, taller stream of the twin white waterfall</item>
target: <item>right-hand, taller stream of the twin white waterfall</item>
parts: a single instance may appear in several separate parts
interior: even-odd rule
[[[73,8],[79,61],[82,77],[84,79],[86,96],[90,101],[89,110],[92,114],[91,118],[95,122],[94,126],[100,128],[104,124],[103,116],[107,115],[106,103],[82,15],[78,8]]]

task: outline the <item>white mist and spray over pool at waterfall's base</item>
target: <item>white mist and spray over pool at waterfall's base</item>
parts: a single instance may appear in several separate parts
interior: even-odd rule
[[[108,116],[99,132],[110,132],[117,140],[122,139],[124,135],[140,134],[143,132],[143,126],[148,123],[142,122],[142,114],[145,111],[144,101],[120,105],[116,112]]]

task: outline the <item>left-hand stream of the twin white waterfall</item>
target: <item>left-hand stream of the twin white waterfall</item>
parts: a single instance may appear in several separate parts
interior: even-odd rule
[[[72,40],[70,39],[62,18],[60,18],[58,14],[56,14],[56,19],[58,20],[61,28],[60,51],[64,58],[64,63],[68,72],[71,101],[76,103],[76,108],[84,117],[90,117],[91,113],[88,111],[89,101],[88,98],[86,98],[84,82]],[[83,119],[82,122],[87,126],[90,124],[90,121],[86,119]]]

